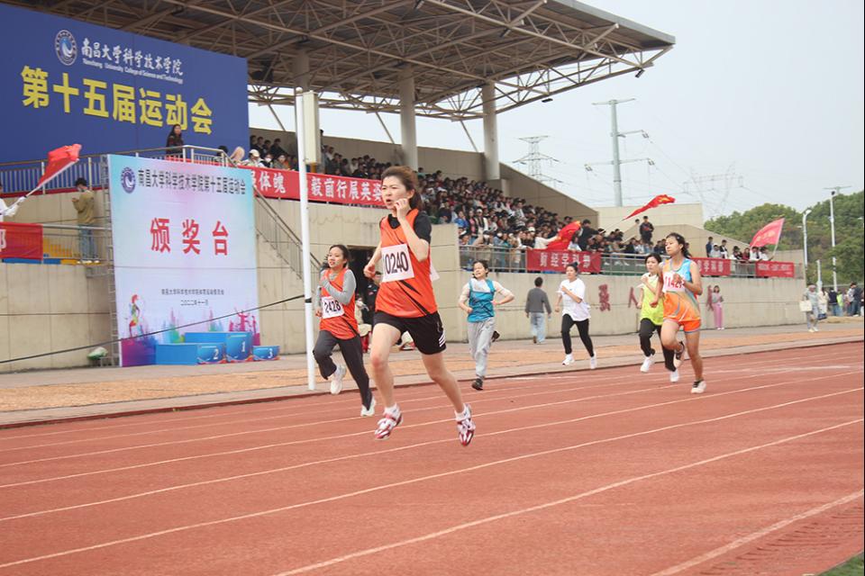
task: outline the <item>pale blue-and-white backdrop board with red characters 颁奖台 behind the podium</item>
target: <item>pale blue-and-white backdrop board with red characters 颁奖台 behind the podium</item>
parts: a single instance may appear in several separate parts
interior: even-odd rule
[[[121,365],[192,332],[251,332],[259,344],[249,170],[109,156]],[[215,320],[231,314],[223,320]],[[186,329],[178,327],[196,322]]]

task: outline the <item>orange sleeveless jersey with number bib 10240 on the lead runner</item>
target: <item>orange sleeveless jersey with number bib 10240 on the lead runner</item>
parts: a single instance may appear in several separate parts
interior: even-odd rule
[[[408,222],[420,212],[408,212]],[[387,312],[398,318],[420,318],[438,310],[432,293],[430,277],[431,258],[423,262],[414,257],[405,241],[403,227],[392,229],[387,216],[378,222],[381,231],[381,286],[376,297],[376,311]],[[432,254],[431,254],[432,256]]]

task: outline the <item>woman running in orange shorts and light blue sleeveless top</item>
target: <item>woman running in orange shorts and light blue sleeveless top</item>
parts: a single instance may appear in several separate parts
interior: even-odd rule
[[[667,236],[667,254],[669,260],[662,266],[664,282],[658,283],[655,302],[664,295],[664,323],[660,327],[660,342],[663,347],[672,350],[673,365],[682,365],[682,358],[687,349],[687,356],[694,368],[694,384],[692,394],[702,394],[706,391],[706,381],[703,380],[703,358],[700,357],[700,304],[697,296],[703,293],[703,279],[697,263],[690,259],[685,247],[685,238],[673,232]],[[685,330],[685,344],[677,338],[678,329]]]

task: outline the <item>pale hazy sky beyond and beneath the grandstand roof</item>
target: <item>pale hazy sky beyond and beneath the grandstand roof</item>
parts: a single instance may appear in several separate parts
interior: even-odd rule
[[[826,0],[589,0],[589,5],[676,37],[656,66],[560,94],[498,118],[499,157],[513,164],[527,145],[546,135],[542,152],[559,160],[544,166],[556,187],[589,205],[612,205],[611,166],[587,162],[612,157],[609,109],[593,102],[636,98],[618,106],[619,130],[646,130],[621,141],[624,158],[651,157],[656,166],[623,166],[624,203],[657,193],[696,202],[693,176],[734,175],[701,184],[706,218],[763,202],[801,210],[824,199],[825,186],[862,189],[863,8],[860,1]],[[278,113],[293,130],[293,110]],[[399,118],[383,115],[399,141]],[[325,134],[387,140],[375,116],[321,112]],[[270,113],[250,107],[250,123],[276,127]],[[418,145],[471,149],[460,124],[418,119]],[[481,121],[467,122],[483,147]],[[433,168],[434,166],[424,166]],[[516,166],[525,170],[525,166]],[[740,186],[740,179],[742,186]],[[729,196],[722,205],[724,194]]]

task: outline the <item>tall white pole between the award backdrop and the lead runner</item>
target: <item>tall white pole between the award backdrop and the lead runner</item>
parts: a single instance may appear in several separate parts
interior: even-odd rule
[[[306,386],[315,390],[315,359],[313,357],[313,293],[312,269],[309,262],[309,185],[306,182],[306,150],[304,126],[304,91],[295,93],[295,121],[297,138],[297,172],[300,184],[300,240],[301,264],[304,277],[304,332],[306,339]]]

